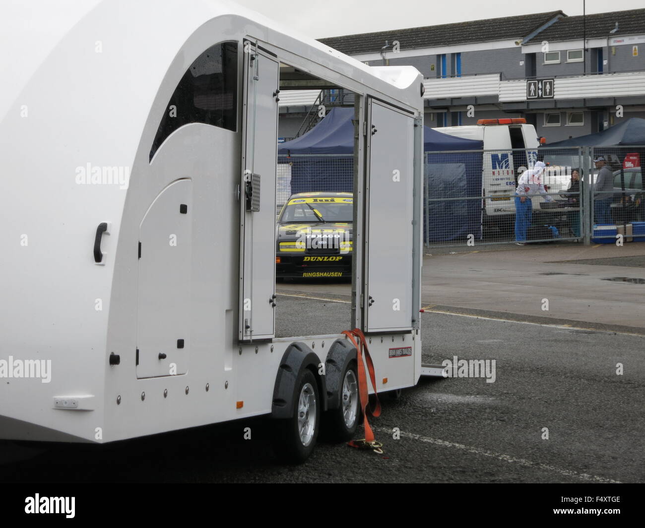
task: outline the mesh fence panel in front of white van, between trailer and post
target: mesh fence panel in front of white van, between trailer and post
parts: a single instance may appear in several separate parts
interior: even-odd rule
[[[581,237],[579,149],[426,152],[424,171],[428,246]]]

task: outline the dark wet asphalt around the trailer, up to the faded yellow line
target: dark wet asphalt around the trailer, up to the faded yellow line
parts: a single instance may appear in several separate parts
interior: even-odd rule
[[[279,306],[277,333],[333,333],[348,320],[342,302],[280,295]],[[320,441],[304,464],[282,465],[271,421],[254,418],[108,445],[3,442],[0,482],[645,482],[645,337],[422,318],[424,361],[495,360],[495,382],[422,378],[382,395],[370,422],[381,455]]]

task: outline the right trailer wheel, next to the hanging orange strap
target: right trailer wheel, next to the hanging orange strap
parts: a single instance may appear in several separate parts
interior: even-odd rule
[[[324,414],[324,433],[331,442],[352,440],[361,417],[359,376],[355,360],[350,361],[341,379],[340,405]]]

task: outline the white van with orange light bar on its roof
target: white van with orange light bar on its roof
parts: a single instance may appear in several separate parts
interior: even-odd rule
[[[517,176],[537,161],[539,138],[524,118],[480,119],[475,125],[435,128],[438,132],[484,142],[482,194],[486,199],[485,217],[515,214]],[[523,149],[513,152],[513,149]],[[537,198],[537,199],[536,199]],[[542,197],[533,198],[533,210],[540,209]],[[499,219],[495,219],[499,221]]]

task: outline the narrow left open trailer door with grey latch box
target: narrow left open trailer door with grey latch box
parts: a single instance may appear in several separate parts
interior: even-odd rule
[[[244,41],[239,339],[274,335],[279,62]]]

